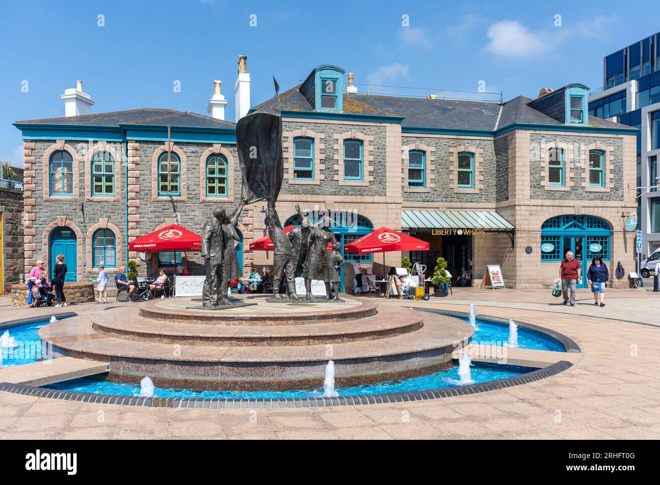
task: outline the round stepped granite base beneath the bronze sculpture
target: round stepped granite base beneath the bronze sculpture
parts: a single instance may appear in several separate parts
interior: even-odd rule
[[[245,300],[253,305],[217,311],[154,300],[57,321],[39,336],[56,355],[108,363],[112,380],[240,390],[320,387],[329,360],[339,385],[434,372],[473,334],[459,319],[368,299]]]

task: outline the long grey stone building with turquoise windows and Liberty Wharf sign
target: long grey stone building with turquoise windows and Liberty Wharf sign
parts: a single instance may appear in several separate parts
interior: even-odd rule
[[[325,94],[319,86],[328,80],[334,91]],[[454,284],[469,271],[471,283],[479,285],[486,265],[500,265],[507,286],[548,286],[567,248],[577,248],[582,259],[602,253],[612,275],[618,261],[632,268],[634,245],[622,214],[636,206],[628,189],[635,181],[634,130],[592,123],[585,114],[580,123],[556,119],[566,112],[552,103],[586,96],[583,86],[566,86],[566,96],[558,90],[552,99],[489,104],[364,96],[342,84],[340,68],[320,66],[281,96],[284,181],[277,208],[283,225],[296,224],[300,205],[314,218],[334,218],[344,245],[381,226],[409,232],[432,247],[411,259],[428,263],[430,273],[435,257],[446,257]],[[117,117],[15,123],[25,147],[26,265],[36,259],[49,265],[53,248],[63,247],[75,255],[72,277],[78,282],[98,273],[99,251],[114,261],[108,265],[106,259],[111,273],[128,260],[144,276],[158,267],[172,271],[177,255],[147,260],[129,252],[128,242],[172,222],[199,233],[216,205],[232,212],[240,202],[233,123],[172,110],[122,112],[120,123]],[[112,191],[102,196],[94,179],[99,153],[114,163],[104,174],[114,180]],[[162,193],[162,157],[168,153],[177,161],[176,178],[170,178],[176,190]],[[562,154],[558,162],[551,160],[556,153]],[[600,168],[594,168],[595,154],[602,156]],[[213,172],[218,163],[221,178]],[[61,185],[57,170],[69,168]],[[599,183],[592,183],[597,177]],[[53,192],[53,183],[65,193]],[[240,217],[246,273],[272,264],[271,252],[248,249],[266,235],[264,206],[250,205]],[[459,222],[411,222],[447,214]],[[502,223],[484,229],[471,220]],[[386,274],[402,256],[385,253],[385,267],[382,254],[362,257],[362,265]],[[193,273],[202,271],[199,254],[182,258]],[[352,280],[347,265],[343,286]]]

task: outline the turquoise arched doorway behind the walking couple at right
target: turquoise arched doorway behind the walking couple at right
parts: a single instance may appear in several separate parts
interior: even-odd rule
[[[600,256],[610,261],[610,225],[595,216],[566,214],[549,218],[541,226],[541,261],[562,261],[568,251],[582,263],[586,275],[591,259]],[[587,287],[582,278],[578,288]]]

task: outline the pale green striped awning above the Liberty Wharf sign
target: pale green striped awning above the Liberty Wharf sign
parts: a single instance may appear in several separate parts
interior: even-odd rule
[[[401,227],[407,229],[484,229],[510,231],[514,227],[490,210],[403,210]]]

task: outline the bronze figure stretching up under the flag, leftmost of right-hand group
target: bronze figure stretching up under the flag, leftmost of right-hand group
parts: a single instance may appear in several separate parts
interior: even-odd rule
[[[284,296],[280,293],[280,282],[282,281],[282,276],[286,275],[286,292],[288,298],[298,300],[295,275],[298,257],[297,255],[294,257],[293,247],[284,229],[282,229],[273,199],[268,200],[266,225],[268,235],[271,241],[273,241],[273,298],[277,300],[284,299]]]

